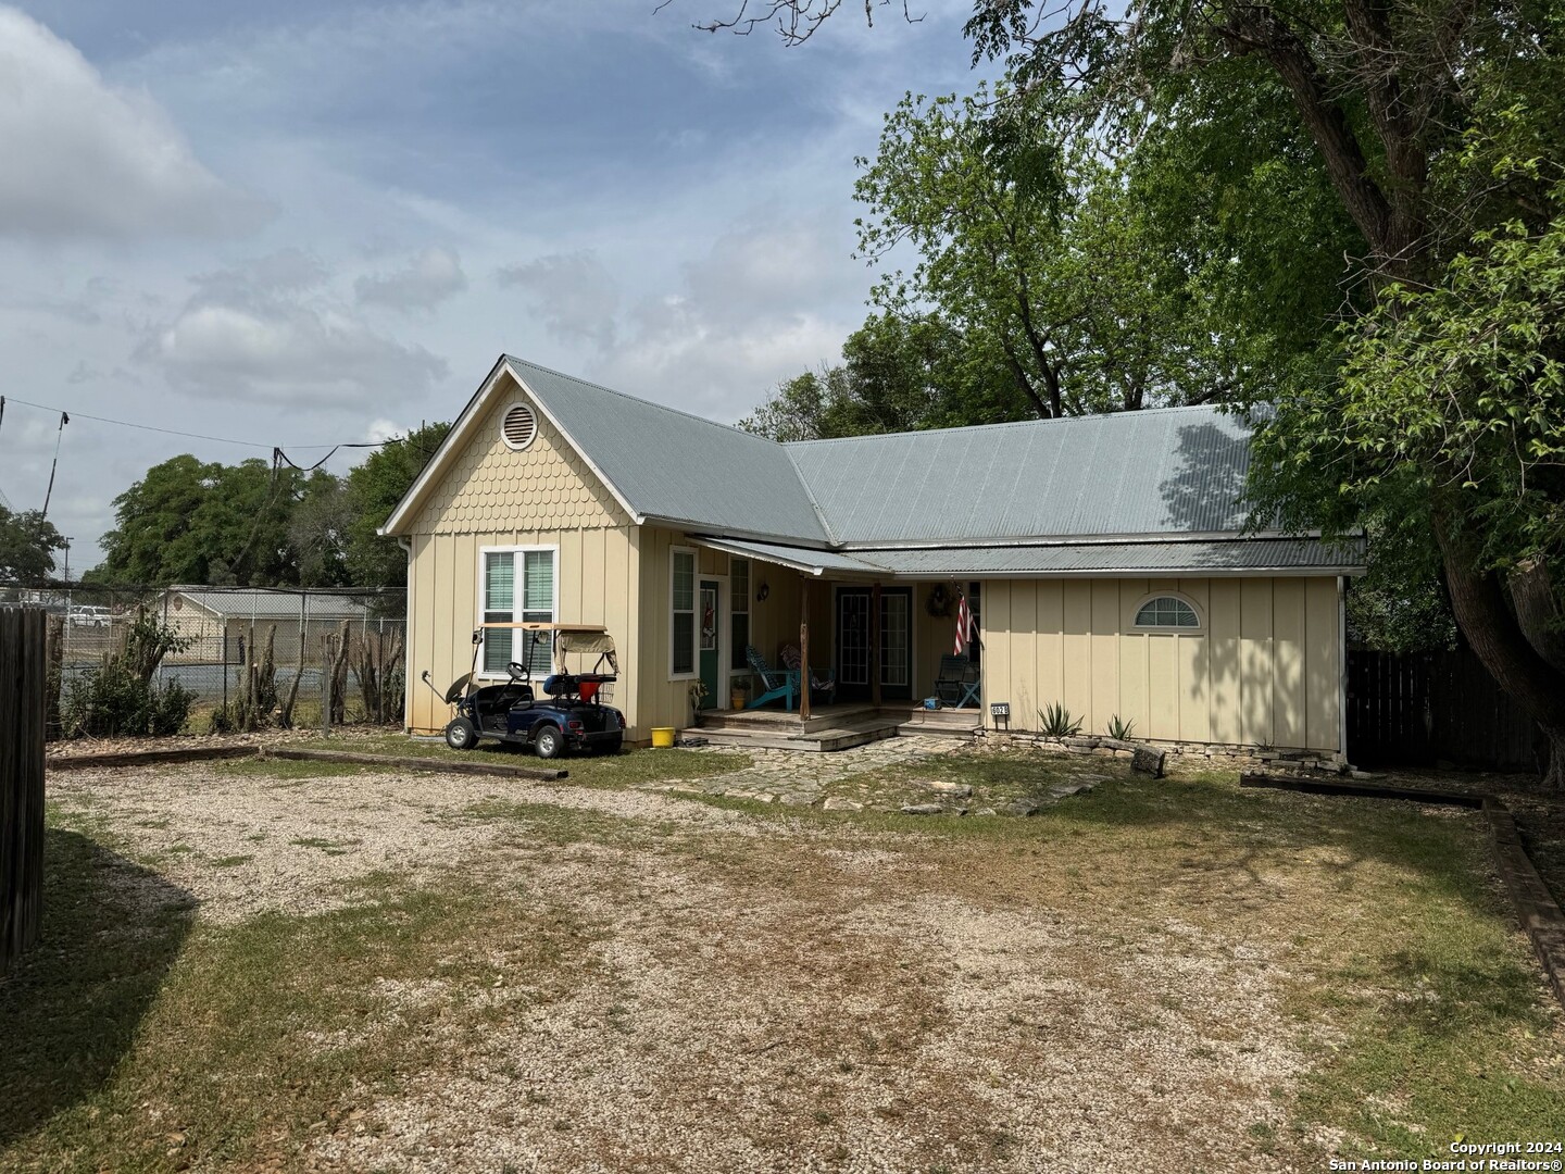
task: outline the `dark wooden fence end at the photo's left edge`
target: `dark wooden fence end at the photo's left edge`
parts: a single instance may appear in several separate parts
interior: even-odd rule
[[[44,612],[0,607],[0,975],[44,905]]]

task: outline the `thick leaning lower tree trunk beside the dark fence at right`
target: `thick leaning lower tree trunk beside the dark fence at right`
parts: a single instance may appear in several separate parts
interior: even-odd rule
[[[1457,626],[1495,682],[1526,709],[1549,740],[1545,780],[1565,787],[1565,673],[1545,661],[1506,606],[1495,571],[1477,571],[1451,521],[1435,510],[1435,540]]]

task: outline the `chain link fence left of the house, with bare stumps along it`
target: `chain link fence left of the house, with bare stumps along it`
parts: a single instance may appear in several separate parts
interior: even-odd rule
[[[42,585],[0,589],[0,601],[49,612],[56,734],[61,698],[125,657],[138,617],[167,634],[150,684],[192,695],[191,733],[402,723],[402,592]]]

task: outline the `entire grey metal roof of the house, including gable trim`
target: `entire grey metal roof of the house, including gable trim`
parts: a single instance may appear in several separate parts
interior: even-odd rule
[[[637,518],[811,574],[1358,573],[1363,543],[1241,538],[1250,426],[1214,407],[778,445],[502,355],[404,496],[443,474],[502,371]],[[1094,542],[1097,540],[1097,542]],[[720,545],[721,543],[721,545]],[[941,549],[920,549],[939,546]]]

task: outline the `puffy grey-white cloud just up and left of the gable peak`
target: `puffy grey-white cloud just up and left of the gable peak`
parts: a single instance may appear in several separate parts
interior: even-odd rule
[[[311,407],[372,407],[446,377],[438,355],[376,333],[316,291],[324,280],[326,271],[297,252],[203,275],[138,358],[182,391]]]

